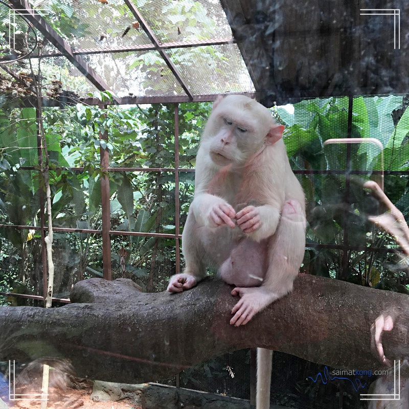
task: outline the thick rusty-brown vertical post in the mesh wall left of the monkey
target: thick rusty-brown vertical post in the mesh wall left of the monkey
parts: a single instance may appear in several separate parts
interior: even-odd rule
[[[101,105],[100,108],[105,108]],[[100,141],[108,142],[108,131],[99,134]],[[99,153],[101,157],[101,170],[103,172],[109,166],[109,150],[102,149],[100,146]],[[111,239],[109,230],[111,229],[111,211],[109,206],[109,179],[107,176],[101,176],[101,210],[102,210],[102,272],[105,280],[112,280],[111,265]]]

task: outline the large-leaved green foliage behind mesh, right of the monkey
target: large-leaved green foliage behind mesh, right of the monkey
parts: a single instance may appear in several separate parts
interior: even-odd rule
[[[284,142],[294,169],[335,171],[335,174],[306,174],[300,181],[307,198],[308,230],[304,271],[325,277],[340,277],[342,251],[317,248],[317,244],[342,246],[345,232],[348,244],[361,248],[348,252],[348,276],[345,279],[356,284],[376,286],[402,292],[404,266],[400,258],[388,253],[370,253],[368,246],[398,246],[387,234],[368,221],[368,216],[378,214],[379,204],[363,188],[373,170],[408,170],[409,110],[403,109],[397,125],[392,113],[402,107],[402,97],[358,97],[353,100],[353,138],[375,138],[383,146],[375,144],[351,145],[351,171],[349,202],[346,205],[347,148],[345,144],[325,145],[334,138],[348,137],[348,98],[329,98],[301,101],[294,104],[294,113],[276,108],[280,122],[284,123]],[[336,172],[337,171],[337,172]],[[384,180],[385,193],[407,215],[409,210],[407,176],[389,175]],[[344,229],[345,226],[345,229]],[[313,243],[314,246],[308,246]]]

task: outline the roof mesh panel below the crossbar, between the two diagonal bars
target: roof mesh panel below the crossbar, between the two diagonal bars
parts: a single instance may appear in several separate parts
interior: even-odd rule
[[[82,57],[119,97],[186,95],[157,51]]]

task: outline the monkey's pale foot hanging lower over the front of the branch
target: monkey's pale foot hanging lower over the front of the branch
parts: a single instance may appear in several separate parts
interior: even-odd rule
[[[230,320],[230,324],[235,327],[247,324],[254,315],[276,299],[274,294],[261,287],[236,287],[232,296],[240,296],[240,301],[232,309],[234,316]]]

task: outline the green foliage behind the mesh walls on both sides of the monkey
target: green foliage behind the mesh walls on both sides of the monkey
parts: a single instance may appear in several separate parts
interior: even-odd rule
[[[100,98],[102,101],[111,96],[105,94]],[[400,117],[395,118],[396,126],[391,116],[391,111],[401,106],[401,101],[395,96],[360,97],[353,103],[352,136],[378,139],[384,147],[385,169],[406,169],[409,163],[406,154],[409,114],[403,109]],[[307,243],[314,244],[307,244],[304,270],[339,277],[342,253],[316,245],[342,245],[346,223],[348,244],[362,247],[362,251],[357,249],[348,254],[347,279],[378,288],[403,290],[402,285],[407,283],[401,276],[403,266],[397,263],[396,256],[363,252],[363,247],[369,245],[397,247],[391,238],[368,222],[368,215],[376,214],[379,209],[362,189],[370,172],[380,169],[380,149],[371,144],[351,146],[351,170],[368,174],[351,175],[351,207],[346,208],[343,203],[347,186],[343,171],[347,169],[347,149],[345,145],[325,145],[324,142],[348,136],[348,99],[302,101],[293,108],[293,113],[283,108],[274,111],[278,120],[286,125],[284,142],[293,168],[340,171],[339,174],[298,176],[308,202]],[[200,132],[210,110],[210,103],[179,105],[177,153],[180,168],[195,166]],[[174,116],[173,104],[109,105],[106,109],[77,104],[64,109],[45,108],[43,121],[50,157],[55,227],[100,230],[101,179],[107,176],[111,230],[174,234],[174,172],[143,171],[144,168],[175,167]],[[0,108],[0,220],[3,224],[40,224],[43,183],[38,176],[35,122],[32,108],[15,108],[11,100]],[[101,134],[105,134],[107,140],[100,139]],[[104,150],[108,150],[110,167],[129,170],[108,172],[101,169],[100,151]],[[20,169],[27,165],[34,169]],[[76,167],[83,167],[83,171],[72,169]],[[131,171],[132,168],[141,170]],[[193,191],[194,173],[179,172],[181,228]],[[386,177],[385,192],[407,214],[407,178]],[[22,283],[24,257],[21,255],[31,243],[31,233],[2,229],[0,235],[4,243],[8,243],[5,248],[10,255],[19,257],[16,269],[10,274],[17,274]],[[101,275],[99,235],[57,233],[56,246],[56,254],[65,260],[62,264],[67,277],[80,279]],[[115,277],[138,278],[147,290],[161,290],[167,278],[174,274],[175,241],[172,239],[111,235],[111,248]],[[69,287],[64,285],[61,284],[61,297],[64,288]]]

